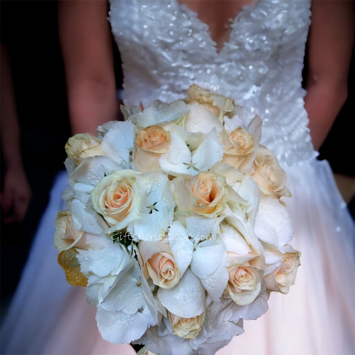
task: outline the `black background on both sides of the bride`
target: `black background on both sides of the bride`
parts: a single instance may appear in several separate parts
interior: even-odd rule
[[[65,143],[70,136],[64,67],[57,30],[57,1],[1,0],[1,40],[8,48],[25,170],[32,199],[25,220],[1,222],[1,316],[16,290],[33,235],[46,208],[55,174],[64,169]],[[116,82],[121,87],[120,57],[115,48]],[[335,172],[354,176],[354,64],[349,75],[349,98],[338,116],[319,159],[328,159]],[[1,89],[1,88],[0,88]],[[336,154],[334,156],[334,153]],[[339,156],[345,157],[338,160]],[[1,162],[1,176],[4,164]],[[2,182],[3,179],[1,179]],[[353,200],[349,204],[353,215]],[[53,238],[52,235],[48,236]]]

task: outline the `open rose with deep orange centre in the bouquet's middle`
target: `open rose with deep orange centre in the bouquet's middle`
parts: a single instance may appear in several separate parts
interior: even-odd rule
[[[189,180],[177,177],[173,182],[174,199],[182,210],[210,215],[228,200],[226,178],[212,171],[202,171]]]

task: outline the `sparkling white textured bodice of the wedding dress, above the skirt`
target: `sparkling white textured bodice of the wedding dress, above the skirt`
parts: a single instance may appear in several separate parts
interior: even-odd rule
[[[220,52],[208,26],[177,0],[112,0],[127,105],[186,97],[191,84],[231,97],[282,165],[316,156],[301,87],[310,0],[255,0],[237,15]]]

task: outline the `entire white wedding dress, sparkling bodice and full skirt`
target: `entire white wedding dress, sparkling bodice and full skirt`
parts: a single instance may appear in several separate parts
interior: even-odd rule
[[[111,1],[109,20],[120,49],[126,105],[146,107],[186,96],[191,84],[231,97],[245,124],[263,120],[262,144],[288,173],[284,199],[301,252],[288,295],[272,293],[269,310],[219,355],[354,354],[354,224],[327,161],[318,161],[303,107],[302,66],[310,0],[258,0],[233,19],[217,50],[208,27],[177,0]],[[53,187],[3,327],[10,354],[129,354],[96,329],[85,290],[67,285],[56,263],[54,219],[66,175]]]

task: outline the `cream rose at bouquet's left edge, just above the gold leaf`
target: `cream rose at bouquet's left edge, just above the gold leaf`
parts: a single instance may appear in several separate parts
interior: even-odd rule
[[[57,214],[54,244],[58,250],[68,250],[73,246],[88,250],[86,232],[74,228],[72,215],[69,211],[59,211]]]

